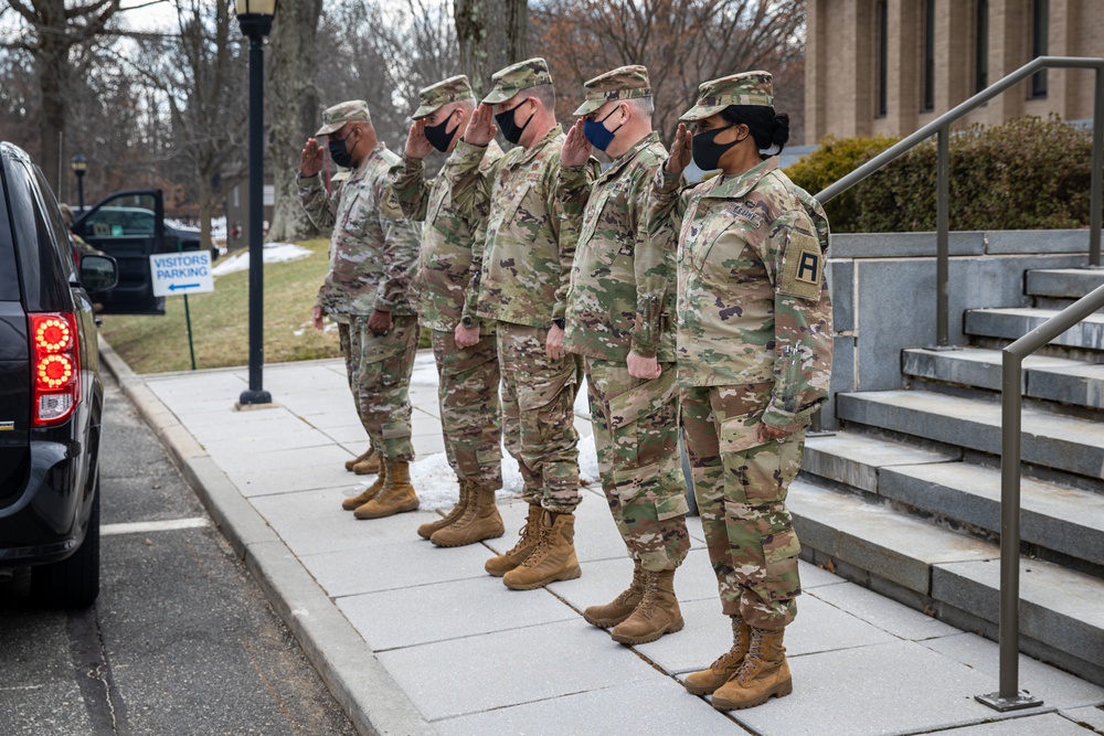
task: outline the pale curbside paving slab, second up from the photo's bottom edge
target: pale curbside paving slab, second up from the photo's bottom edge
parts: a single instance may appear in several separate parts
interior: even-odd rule
[[[668,683],[672,693],[680,690],[581,618],[378,657],[431,722],[615,685]]]

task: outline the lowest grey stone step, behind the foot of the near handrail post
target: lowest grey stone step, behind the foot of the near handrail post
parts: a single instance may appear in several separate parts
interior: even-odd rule
[[[805,479],[789,489],[802,556],[937,618],[996,638],[996,545],[927,524]],[[1104,684],[1104,580],[1020,562],[1020,648]]]

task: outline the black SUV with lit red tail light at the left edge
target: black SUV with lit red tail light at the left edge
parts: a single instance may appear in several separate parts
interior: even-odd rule
[[[114,258],[73,260],[42,172],[0,142],[0,572],[31,567],[31,594],[83,607],[99,593],[104,384],[86,288]]]

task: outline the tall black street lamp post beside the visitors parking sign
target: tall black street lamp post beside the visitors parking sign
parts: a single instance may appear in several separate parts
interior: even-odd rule
[[[250,388],[241,406],[270,404],[262,387],[264,364],[264,39],[273,28],[276,0],[235,0],[237,23],[250,39]]]

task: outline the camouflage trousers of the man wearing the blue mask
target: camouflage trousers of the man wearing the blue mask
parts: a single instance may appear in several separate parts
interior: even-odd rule
[[[675,569],[690,550],[679,458],[675,363],[634,378],[623,361],[584,359],[598,471],[609,512],[644,569]]]

